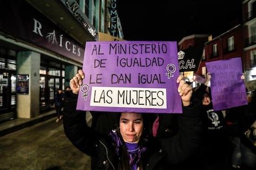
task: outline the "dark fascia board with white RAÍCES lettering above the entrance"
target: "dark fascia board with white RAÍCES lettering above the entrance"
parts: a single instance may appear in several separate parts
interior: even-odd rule
[[[27,3],[15,3],[15,6],[12,6],[12,3],[0,6],[5,14],[0,17],[1,31],[68,59],[83,62],[84,47],[75,39]]]

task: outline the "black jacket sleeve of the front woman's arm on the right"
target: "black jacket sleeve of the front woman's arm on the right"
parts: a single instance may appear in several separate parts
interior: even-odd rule
[[[183,113],[177,115],[178,132],[169,139],[160,139],[167,153],[167,161],[172,164],[181,163],[197,152],[202,142],[201,104],[194,100],[188,107],[182,108]]]

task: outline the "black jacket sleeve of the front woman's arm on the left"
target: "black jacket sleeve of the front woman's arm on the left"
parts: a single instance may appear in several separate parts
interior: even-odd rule
[[[100,139],[100,134],[87,126],[86,111],[76,110],[77,95],[65,96],[63,125],[64,132],[72,144],[83,153],[93,156],[95,142]]]

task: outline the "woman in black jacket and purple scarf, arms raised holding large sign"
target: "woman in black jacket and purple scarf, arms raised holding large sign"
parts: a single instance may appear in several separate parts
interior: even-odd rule
[[[78,94],[84,74],[82,70],[70,80],[74,94]],[[75,110],[76,98],[70,97],[64,110],[64,131],[72,144],[83,153],[98,160],[92,169],[170,169],[194,153],[201,142],[200,105],[192,103],[192,87],[182,76],[177,78],[177,92],[181,96],[183,113],[179,114],[179,132],[168,139],[148,133],[147,115],[150,113],[119,114],[118,127],[101,134],[87,126],[85,111]],[[111,114],[111,113],[109,113]]]

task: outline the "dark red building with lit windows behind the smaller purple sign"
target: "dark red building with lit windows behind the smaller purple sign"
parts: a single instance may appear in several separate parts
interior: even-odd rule
[[[236,25],[215,38],[212,38],[211,34],[187,36],[179,42],[179,49],[182,47],[193,49],[198,44],[203,44],[203,50],[195,54],[198,56],[198,59],[200,59],[200,65],[196,71],[189,74],[190,78],[193,78],[194,75],[205,77],[207,74],[205,63],[207,62],[232,59],[236,57],[241,58],[243,67],[242,71],[245,72],[242,25]],[[184,75],[188,75],[186,71]],[[245,81],[249,80],[245,79]],[[198,83],[195,82],[194,87],[197,86],[197,84]]]

